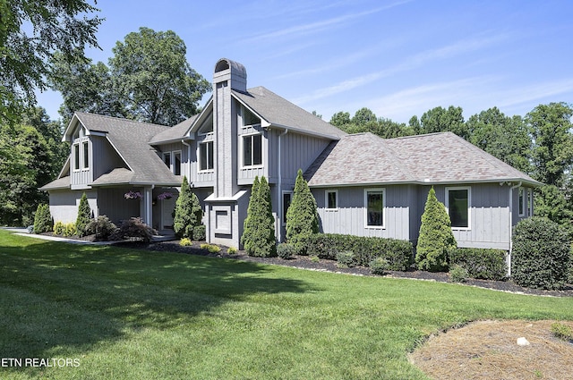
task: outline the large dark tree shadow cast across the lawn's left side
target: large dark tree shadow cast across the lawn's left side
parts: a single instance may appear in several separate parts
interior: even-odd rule
[[[10,241],[0,241],[3,358],[77,354],[126,330],[167,329],[217,314],[218,306],[257,293],[312,290],[272,278],[269,266],[237,260]]]

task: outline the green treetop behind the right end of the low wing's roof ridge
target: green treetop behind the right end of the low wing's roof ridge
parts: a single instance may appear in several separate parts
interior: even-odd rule
[[[432,108],[420,118],[420,133],[435,133],[452,131],[459,137],[468,139],[468,131],[464,123],[461,107],[449,106],[448,109],[440,106]],[[415,122],[410,119],[410,122]]]

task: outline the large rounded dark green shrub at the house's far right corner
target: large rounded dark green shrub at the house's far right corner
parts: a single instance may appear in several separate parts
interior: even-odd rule
[[[569,234],[543,217],[520,221],[514,230],[511,274],[521,286],[560,289],[568,280]]]

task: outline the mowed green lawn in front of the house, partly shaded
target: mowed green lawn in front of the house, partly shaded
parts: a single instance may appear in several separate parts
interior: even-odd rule
[[[486,318],[573,319],[573,300],[451,283],[78,246],[0,231],[0,378],[425,378],[406,355]]]

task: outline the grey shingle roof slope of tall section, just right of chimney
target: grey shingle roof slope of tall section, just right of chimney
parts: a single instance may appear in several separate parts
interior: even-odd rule
[[[272,125],[331,139],[346,135],[346,132],[264,87],[248,89],[246,93],[234,89],[233,95]]]

